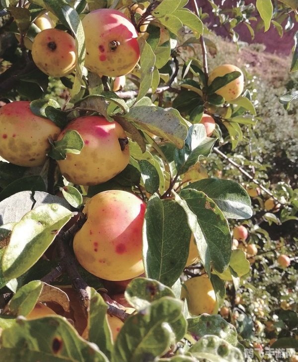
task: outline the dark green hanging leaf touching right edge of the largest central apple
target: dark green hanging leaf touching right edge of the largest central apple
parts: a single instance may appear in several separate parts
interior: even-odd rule
[[[143,228],[146,276],[173,285],[185,267],[190,238],[182,207],[174,200],[152,196],[147,203]]]

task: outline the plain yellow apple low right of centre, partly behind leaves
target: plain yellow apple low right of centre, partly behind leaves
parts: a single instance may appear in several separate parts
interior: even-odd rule
[[[193,315],[217,313],[215,291],[207,274],[186,280],[182,285],[181,298],[187,299],[188,310]]]

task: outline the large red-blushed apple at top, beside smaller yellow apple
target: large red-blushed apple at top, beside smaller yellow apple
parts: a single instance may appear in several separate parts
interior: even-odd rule
[[[83,19],[85,67],[100,76],[130,73],[140,59],[138,33],[131,21],[115,9],[97,9]]]

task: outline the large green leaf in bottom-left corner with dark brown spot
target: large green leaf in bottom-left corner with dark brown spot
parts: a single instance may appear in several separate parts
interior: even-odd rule
[[[19,319],[1,334],[3,361],[108,362],[96,345],[85,341],[61,316]]]

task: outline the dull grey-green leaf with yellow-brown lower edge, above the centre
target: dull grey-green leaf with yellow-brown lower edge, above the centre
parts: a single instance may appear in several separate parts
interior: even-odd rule
[[[180,113],[174,108],[136,106],[123,117],[141,129],[171,141],[177,148],[182,148],[184,145],[187,128]]]

